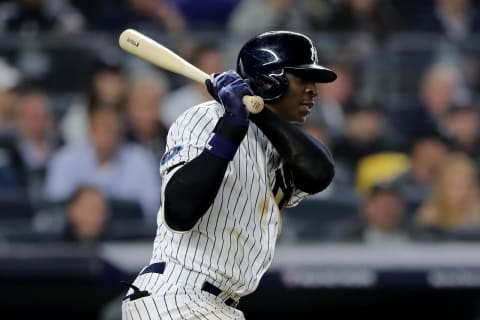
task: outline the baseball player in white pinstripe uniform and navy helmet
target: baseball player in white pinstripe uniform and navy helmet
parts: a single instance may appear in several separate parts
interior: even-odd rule
[[[333,179],[330,151],[298,124],[315,83],[335,79],[309,38],[272,31],[241,48],[236,72],[206,81],[215,101],[169,130],[153,255],[124,298],[124,320],[245,319],[237,305],[270,266],[282,209]],[[245,95],[266,107],[249,114]]]

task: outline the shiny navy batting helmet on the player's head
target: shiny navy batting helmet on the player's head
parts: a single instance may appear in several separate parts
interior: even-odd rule
[[[245,43],[238,54],[237,72],[265,101],[278,99],[287,91],[285,71],[322,83],[337,78],[335,72],[318,64],[315,46],[300,33],[262,33]]]

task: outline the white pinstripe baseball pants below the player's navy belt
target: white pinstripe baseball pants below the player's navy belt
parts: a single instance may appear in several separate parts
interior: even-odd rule
[[[137,297],[131,289],[124,298],[122,320],[245,320],[240,310],[227,305],[231,295],[205,290],[204,275],[172,263],[161,273],[147,268],[133,283],[142,294]]]

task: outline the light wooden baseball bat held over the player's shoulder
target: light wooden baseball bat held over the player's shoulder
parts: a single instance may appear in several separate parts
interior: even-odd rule
[[[118,43],[128,53],[189,79],[205,83],[210,77],[175,52],[136,30],[124,30]],[[251,113],[259,113],[264,106],[263,99],[259,96],[244,96],[242,101]]]

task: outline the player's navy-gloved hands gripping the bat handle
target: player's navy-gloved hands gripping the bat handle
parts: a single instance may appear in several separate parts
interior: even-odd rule
[[[225,108],[229,117],[248,124],[248,110],[242,102],[245,95],[253,96],[248,82],[233,70],[216,73],[205,81],[208,92]]]

